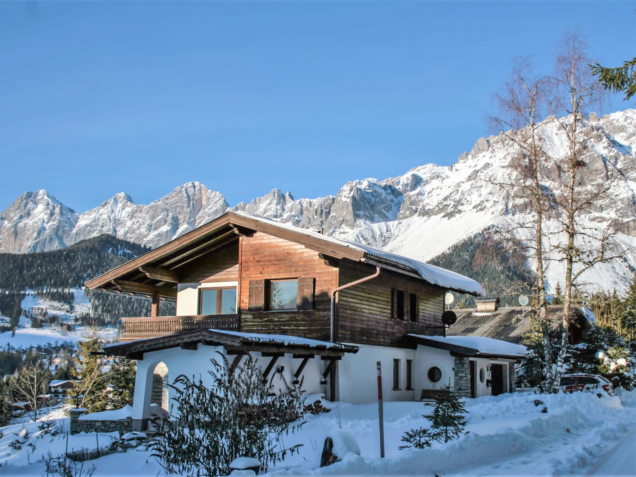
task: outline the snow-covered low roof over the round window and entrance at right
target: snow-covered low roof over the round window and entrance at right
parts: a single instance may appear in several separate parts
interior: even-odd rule
[[[484,336],[408,335],[420,345],[445,349],[471,357],[503,357],[518,359],[527,353],[525,346]]]

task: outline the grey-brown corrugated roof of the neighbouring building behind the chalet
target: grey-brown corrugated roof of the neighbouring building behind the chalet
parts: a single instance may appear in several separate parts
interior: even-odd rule
[[[558,326],[563,305],[550,305],[548,307],[548,320],[553,326]],[[530,307],[502,307],[494,312],[478,312],[476,308],[465,310],[453,310],[457,314],[457,321],[446,328],[446,336],[485,336],[509,343],[525,343],[527,329],[530,328],[530,319],[534,316],[534,310]],[[589,310],[588,310],[589,312]],[[581,316],[581,310],[576,314]],[[589,312],[591,317],[594,315]],[[588,322],[591,317],[583,315]]]

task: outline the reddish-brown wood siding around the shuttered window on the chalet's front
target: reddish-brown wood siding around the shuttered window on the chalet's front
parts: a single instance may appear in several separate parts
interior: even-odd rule
[[[325,265],[318,252],[304,245],[256,232],[243,237],[240,277],[240,328],[254,333],[280,333],[329,340],[329,292],[337,272]],[[254,280],[315,279],[313,309],[254,312],[249,310],[249,287]],[[303,281],[307,289],[307,281]]]

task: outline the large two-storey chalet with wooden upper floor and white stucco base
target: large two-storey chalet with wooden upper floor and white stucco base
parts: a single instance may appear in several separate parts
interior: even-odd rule
[[[245,354],[257,357],[277,389],[302,382],[307,394],[350,403],[377,399],[377,361],[384,399],[412,401],[449,382],[469,396],[470,366],[486,373],[492,361],[502,364],[496,389],[508,391],[508,364],[519,357],[518,349],[444,338],[446,291],[478,296],[478,282],[245,212],[228,212],[86,286],[152,299],[151,316],[122,318],[120,342],[104,347],[137,359],[135,429],[151,404],[168,408],[170,377],[211,382],[217,352],[230,370]],[[161,316],[162,300],[176,300],[176,316]]]

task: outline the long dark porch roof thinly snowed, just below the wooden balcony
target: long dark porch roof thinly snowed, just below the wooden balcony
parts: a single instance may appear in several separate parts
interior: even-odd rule
[[[109,356],[125,356],[129,359],[143,359],[143,354],[151,351],[181,347],[195,350],[198,343],[208,346],[223,346],[232,352],[288,353],[303,356],[342,357],[345,353],[357,353],[358,347],[310,340],[300,336],[265,335],[261,333],[241,333],[220,329],[195,329],[174,335],[135,340],[127,343],[113,343],[104,346]]]

